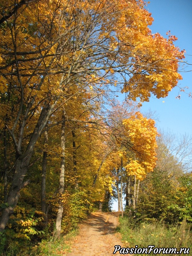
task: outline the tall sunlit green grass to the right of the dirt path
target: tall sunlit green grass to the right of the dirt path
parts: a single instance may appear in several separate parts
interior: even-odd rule
[[[132,226],[132,221],[129,218],[120,219],[119,232],[121,233],[126,247],[147,248],[148,245],[155,245],[156,248],[191,248],[192,234],[191,225],[183,221],[180,226],[170,226],[167,228],[162,222],[153,224],[141,223],[138,226]],[[134,254],[139,255],[139,254]],[[147,254],[142,254],[147,255]],[[153,252],[150,255],[156,255]],[[168,255],[168,254],[158,254]],[[178,254],[172,254],[178,255]],[[185,255],[185,254],[179,254]],[[192,255],[189,252],[188,255]]]

